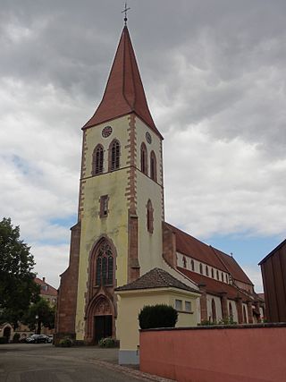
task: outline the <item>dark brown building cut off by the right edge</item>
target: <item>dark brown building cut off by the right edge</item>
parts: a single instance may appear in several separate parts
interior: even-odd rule
[[[286,322],[286,240],[259,263],[265,291],[265,318]]]

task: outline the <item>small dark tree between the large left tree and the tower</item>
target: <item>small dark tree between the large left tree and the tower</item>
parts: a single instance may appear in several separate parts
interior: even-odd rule
[[[48,301],[40,297],[36,303],[30,305],[22,322],[40,335],[42,326],[49,329],[55,327],[55,307],[51,307]]]

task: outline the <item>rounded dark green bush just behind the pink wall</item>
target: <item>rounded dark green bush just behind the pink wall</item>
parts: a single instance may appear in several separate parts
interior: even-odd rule
[[[141,329],[174,327],[178,319],[178,312],[171,305],[147,305],[139,312],[138,318]]]

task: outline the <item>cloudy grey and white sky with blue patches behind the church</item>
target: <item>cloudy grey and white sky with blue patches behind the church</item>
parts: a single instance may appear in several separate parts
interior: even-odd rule
[[[68,265],[80,127],[122,31],[118,0],[1,0],[0,211],[38,276]],[[166,220],[257,263],[285,238],[286,2],[130,0],[129,29],[164,135]]]

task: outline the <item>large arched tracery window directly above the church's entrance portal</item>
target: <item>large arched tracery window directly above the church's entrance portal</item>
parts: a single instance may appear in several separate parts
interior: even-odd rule
[[[102,242],[98,249],[97,255],[97,270],[96,270],[97,285],[112,285],[114,284],[114,256],[108,242]]]

